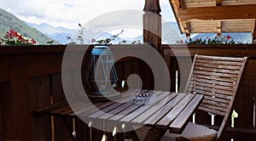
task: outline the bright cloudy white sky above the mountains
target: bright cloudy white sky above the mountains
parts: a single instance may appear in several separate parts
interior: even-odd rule
[[[84,24],[108,12],[143,10],[144,0],[0,0],[0,8],[30,23],[48,23],[54,26],[78,29]],[[164,20],[175,21],[169,0],[160,0]]]

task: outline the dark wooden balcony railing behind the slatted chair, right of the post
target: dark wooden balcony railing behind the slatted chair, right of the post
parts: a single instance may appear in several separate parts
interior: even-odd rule
[[[170,48],[171,47],[171,48]],[[236,94],[236,101],[234,103],[234,110],[238,113],[238,117],[235,119],[235,127],[243,129],[253,129],[253,98],[256,98],[256,45],[201,45],[201,46],[185,46],[185,45],[163,45],[164,58],[166,64],[169,66],[171,73],[172,84],[175,82],[175,77],[180,77],[179,65],[177,64],[177,58],[188,57],[188,54],[183,54],[186,49],[189,49],[189,57],[193,59],[195,54],[212,55],[212,56],[230,56],[230,57],[249,57],[247,59],[247,65],[241,78],[240,87]],[[174,54],[174,52],[176,54]],[[190,68],[187,68],[190,70]],[[178,71],[178,75],[174,73]],[[189,73],[189,71],[188,71]],[[188,74],[185,74],[185,76]],[[178,87],[171,85],[171,91],[179,87],[181,84],[178,81]],[[181,90],[182,91],[182,90]],[[222,117],[215,117],[215,125],[221,123]],[[196,113],[197,123],[211,125],[211,117],[204,112]],[[255,132],[255,130],[253,130]],[[236,133],[233,134],[234,136]],[[237,133],[236,140],[252,139],[256,134]]]

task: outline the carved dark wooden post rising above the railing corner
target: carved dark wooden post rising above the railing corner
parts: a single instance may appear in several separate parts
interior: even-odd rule
[[[161,15],[159,0],[145,0],[143,15],[143,41],[148,42],[162,54],[161,44]]]

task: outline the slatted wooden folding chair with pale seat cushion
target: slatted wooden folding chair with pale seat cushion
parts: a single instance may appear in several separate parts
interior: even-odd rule
[[[178,140],[183,137],[190,140],[219,140],[230,120],[232,105],[241,80],[247,57],[215,57],[195,55],[185,87],[185,93],[200,93],[204,99],[198,110],[203,110],[224,119],[218,132],[205,126],[189,122],[183,133],[166,132],[161,140]]]

